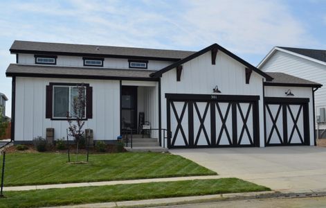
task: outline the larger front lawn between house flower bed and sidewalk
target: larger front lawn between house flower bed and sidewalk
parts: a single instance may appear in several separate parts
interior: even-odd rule
[[[83,157],[85,155],[79,156],[80,159],[83,159]],[[62,153],[7,154],[5,187],[217,175],[217,173],[199,166],[189,159],[167,153],[90,155],[89,164],[69,164],[66,161],[67,156]]]

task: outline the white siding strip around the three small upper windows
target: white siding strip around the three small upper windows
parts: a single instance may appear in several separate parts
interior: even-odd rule
[[[35,64],[34,54],[26,54],[19,53],[18,58],[19,64]],[[161,61],[161,60],[149,60],[147,64],[147,69],[150,70],[159,70],[168,65],[172,64],[169,61]],[[39,65],[39,64],[37,64]],[[68,56],[68,55],[58,55],[57,56],[57,64],[55,66],[60,67],[83,67],[84,62],[82,57],[78,56]],[[51,67],[51,66],[50,66]],[[54,66],[52,66],[54,67]],[[105,58],[103,62],[103,67],[98,68],[109,68],[109,69],[129,69],[129,62],[127,58]],[[144,70],[147,70],[144,69]]]

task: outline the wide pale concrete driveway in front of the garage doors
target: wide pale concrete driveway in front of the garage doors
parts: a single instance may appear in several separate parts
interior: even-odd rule
[[[275,191],[326,191],[326,148],[197,148],[170,152],[223,177],[238,177]]]

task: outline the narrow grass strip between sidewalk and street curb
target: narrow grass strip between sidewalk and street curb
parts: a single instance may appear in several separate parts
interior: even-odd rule
[[[237,178],[221,178],[104,187],[6,191],[6,198],[0,198],[0,207],[48,207],[252,191],[270,191],[270,189]]]

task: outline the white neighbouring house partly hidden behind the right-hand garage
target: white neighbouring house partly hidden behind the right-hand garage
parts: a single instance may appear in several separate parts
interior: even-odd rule
[[[275,46],[257,66],[262,71],[277,71],[306,78],[324,87],[315,92],[315,123],[318,138],[326,138],[326,51]],[[293,94],[296,94],[293,91]]]

